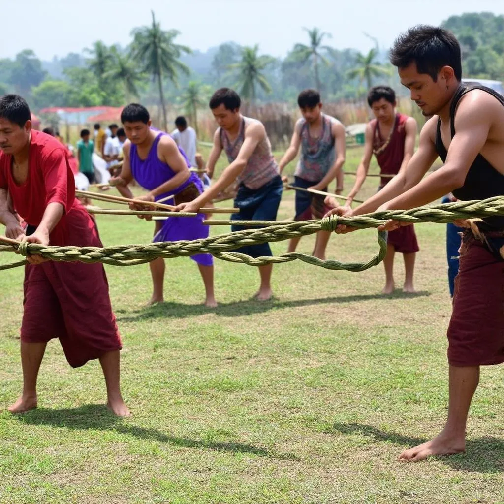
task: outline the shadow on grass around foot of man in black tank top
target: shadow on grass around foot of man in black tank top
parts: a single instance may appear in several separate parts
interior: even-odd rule
[[[387,432],[372,425],[360,423],[335,423],[332,428],[325,430],[328,434],[341,432],[342,434],[360,434],[370,437],[376,442],[386,442],[401,448],[412,448],[428,441],[426,437],[413,437],[397,432]],[[398,456],[399,456],[398,450]],[[468,439],[466,453],[437,457],[443,463],[458,471],[479,473],[504,472],[504,437],[481,436]]]

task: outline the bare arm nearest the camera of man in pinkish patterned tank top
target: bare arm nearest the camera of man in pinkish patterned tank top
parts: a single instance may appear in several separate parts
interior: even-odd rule
[[[245,130],[245,138],[236,159],[222,172],[221,176],[207,191],[192,201],[191,211],[194,208],[201,208],[207,201],[215,198],[221,191],[230,185],[236,177],[244,170],[249,157],[254,153],[259,142],[266,136],[266,130],[261,123],[253,123]],[[181,209],[179,205],[177,209]]]

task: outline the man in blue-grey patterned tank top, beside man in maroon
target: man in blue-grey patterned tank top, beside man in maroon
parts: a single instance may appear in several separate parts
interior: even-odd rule
[[[299,93],[297,104],[302,118],[296,122],[290,147],[279,163],[280,173],[297,156],[301,156],[294,173],[295,185],[304,189],[327,191],[328,185],[336,178],[336,194],[343,190],[343,170],[345,162],[345,128],[336,118],[322,113],[320,93],[305,89]],[[296,191],[295,220],[322,219],[330,210],[324,203],[324,196]],[[326,247],[331,233],[319,231],[312,256],[326,259]],[[295,252],[301,237],[292,238],[288,252]]]

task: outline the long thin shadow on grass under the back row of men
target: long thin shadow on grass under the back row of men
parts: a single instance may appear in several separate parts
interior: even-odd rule
[[[184,304],[175,301],[146,306],[144,308],[130,311],[131,316],[124,316],[125,310],[116,310],[118,322],[139,322],[149,319],[180,318],[205,315],[207,313],[216,313],[222,317],[241,317],[254,313],[264,313],[265,311],[295,308],[298,306],[310,306],[314,304],[331,303],[349,303],[353,301],[367,301],[372,299],[408,299],[420,296],[430,296],[428,291],[418,291],[414,293],[404,293],[396,291],[394,294],[355,294],[350,296],[332,296],[314,299],[295,299],[292,301],[279,301],[272,299],[270,301],[256,301],[255,299],[246,299],[242,301],[233,301],[230,303],[220,303],[217,308],[207,308],[200,304]]]

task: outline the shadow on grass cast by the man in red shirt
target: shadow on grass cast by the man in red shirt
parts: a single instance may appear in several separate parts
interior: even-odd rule
[[[157,429],[129,425],[128,420],[118,418],[110,413],[105,405],[84,404],[77,408],[37,408],[16,417],[20,422],[28,425],[50,425],[75,430],[112,430],[119,434],[126,434],[139,439],[150,439],[179,448],[205,448],[218,452],[251,453],[259,457],[278,460],[301,459],[294,454],[278,454],[268,450],[243,443],[224,443],[191,439],[187,437],[170,436]]]

